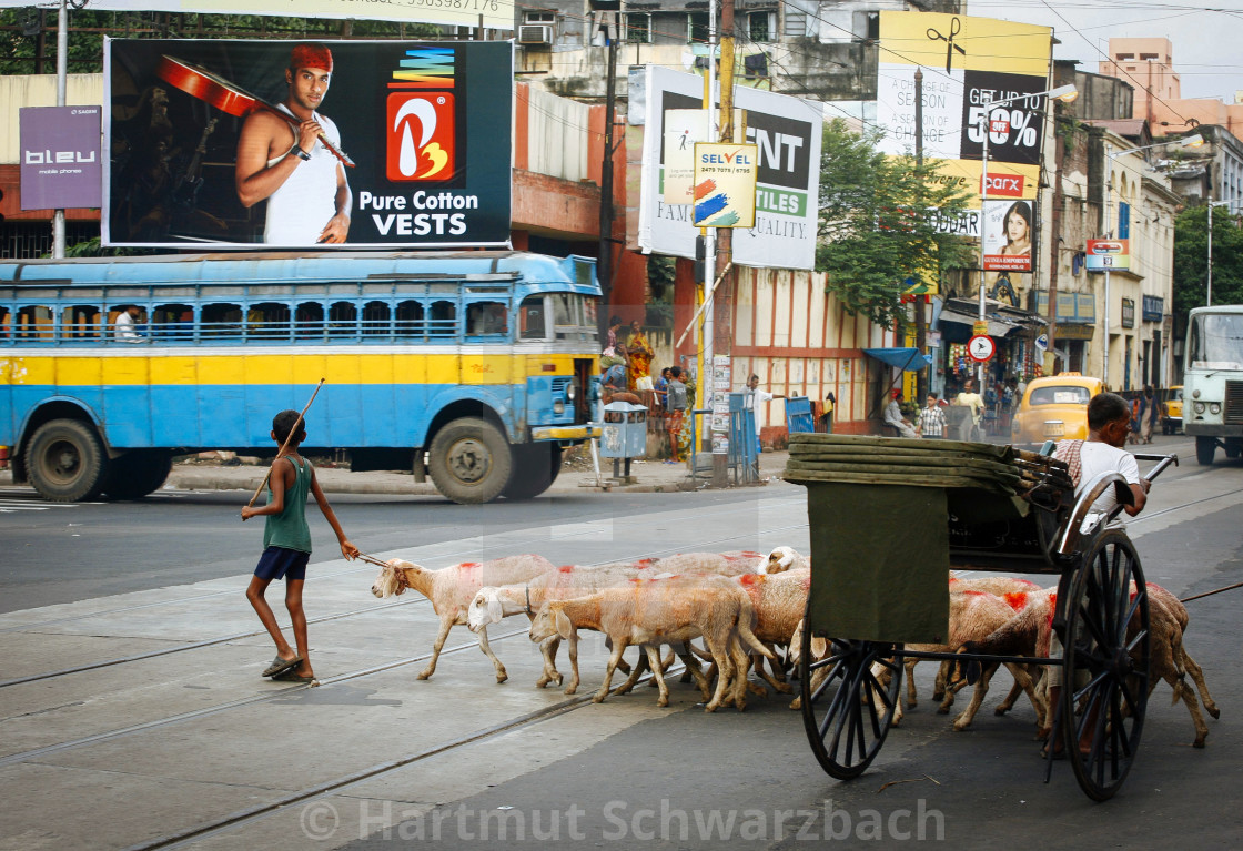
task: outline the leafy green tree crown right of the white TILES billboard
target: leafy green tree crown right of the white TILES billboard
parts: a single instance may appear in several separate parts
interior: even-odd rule
[[[815,267],[848,311],[892,324],[906,278],[936,281],[970,265],[973,252],[935,225],[936,210],[961,212],[968,195],[936,163],[880,153],[879,138],[843,121],[824,128]]]

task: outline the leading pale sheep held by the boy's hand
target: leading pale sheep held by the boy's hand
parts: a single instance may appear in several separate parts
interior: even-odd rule
[[[436,660],[440,658],[440,650],[445,646],[449,630],[466,622],[466,608],[480,588],[526,581],[556,567],[542,555],[533,554],[510,555],[490,562],[462,562],[440,570],[429,570],[401,559],[389,559],[372,583],[372,594],[387,598],[413,588],[431,601],[431,608],[440,616],[440,631],[431,648],[431,660],[419,673],[419,680],[426,680],[436,671]],[[486,630],[479,632],[479,646],[496,667],[496,682],[508,680],[510,675],[506,673],[505,666],[487,644]]]

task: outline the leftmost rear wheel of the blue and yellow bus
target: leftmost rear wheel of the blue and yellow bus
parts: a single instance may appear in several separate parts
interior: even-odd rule
[[[107,467],[99,436],[81,420],[45,422],[26,450],[30,481],[52,502],[78,502],[98,496]]]

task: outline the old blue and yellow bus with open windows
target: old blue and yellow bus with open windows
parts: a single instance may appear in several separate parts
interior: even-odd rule
[[[271,455],[528,498],[594,434],[594,261],[522,252],[0,261],[0,445],[48,499],[138,498],[177,453]]]

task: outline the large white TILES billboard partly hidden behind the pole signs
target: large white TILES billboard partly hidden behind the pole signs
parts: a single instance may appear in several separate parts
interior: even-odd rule
[[[691,204],[666,204],[661,195],[665,116],[702,106],[704,80],[643,66],[630,71],[630,108],[644,124],[639,248],[695,257],[699,229]],[[823,108],[808,101],[738,87],[735,103],[746,114],[746,140],[757,147],[756,224],[733,236],[740,266],[805,268],[815,265]],[[641,103],[641,107],[639,106]]]

